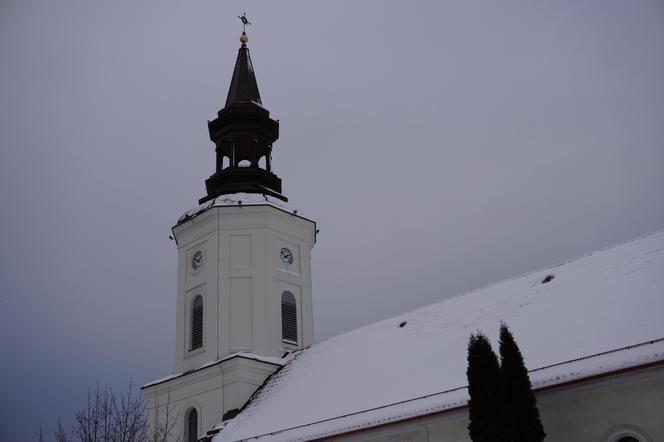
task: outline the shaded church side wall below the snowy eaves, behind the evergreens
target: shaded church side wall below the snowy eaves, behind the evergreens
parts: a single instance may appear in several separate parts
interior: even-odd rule
[[[613,442],[620,428],[637,427],[664,441],[664,367],[613,376],[537,393],[547,442]],[[470,442],[467,410],[441,413],[332,441]]]

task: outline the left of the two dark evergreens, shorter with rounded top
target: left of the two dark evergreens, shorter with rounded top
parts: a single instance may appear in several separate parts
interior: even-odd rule
[[[507,442],[498,358],[481,333],[468,342],[468,431],[473,442]]]

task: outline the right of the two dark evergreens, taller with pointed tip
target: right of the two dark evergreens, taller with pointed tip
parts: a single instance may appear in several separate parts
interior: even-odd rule
[[[541,442],[546,433],[540,421],[528,370],[512,333],[504,323],[500,325],[500,372],[509,440]]]

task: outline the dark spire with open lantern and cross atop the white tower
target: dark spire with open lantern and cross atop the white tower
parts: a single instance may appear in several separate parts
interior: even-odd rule
[[[245,20],[244,25],[250,24]],[[272,173],[272,143],[279,138],[279,122],[262,106],[246,33],[240,41],[226,106],[208,122],[217,163],[215,173],[205,180],[207,196],[199,202],[230,193],[260,193],[288,201],[281,194],[281,179]]]

